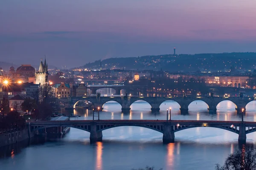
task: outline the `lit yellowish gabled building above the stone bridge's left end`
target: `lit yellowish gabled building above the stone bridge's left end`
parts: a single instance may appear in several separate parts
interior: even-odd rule
[[[55,97],[62,98],[62,97],[70,97],[71,96],[71,89],[70,85],[67,83],[60,83],[55,84]]]

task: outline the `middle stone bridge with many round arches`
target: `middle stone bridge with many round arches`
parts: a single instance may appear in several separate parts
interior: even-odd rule
[[[217,105],[222,101],[231,101],[235,104],[237,111],[245,111],[246,105],[256,100],[254,97],[71,97],[71,98],[61,98],[58,99],[59,102],[65,105],[72,105],[73,108],[76,104],[81,101],[86,100],[93,104],[93,108],[103,109],[103,105],[109,101],[118,102],[122,106],[122,111],[130,111],[131,104],[138,100],[143,100],[151,105],[152,112],[160,111],[160,105],[165,101],[175,101],[180,105],[181,111],[188,111],[190,103],[200,100],[207,104],[208,110],[216,112]]]

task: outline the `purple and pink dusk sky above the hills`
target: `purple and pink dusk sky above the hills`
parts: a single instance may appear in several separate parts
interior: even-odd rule
[[[256,0],[0,0],[0,61],[256,52]]]

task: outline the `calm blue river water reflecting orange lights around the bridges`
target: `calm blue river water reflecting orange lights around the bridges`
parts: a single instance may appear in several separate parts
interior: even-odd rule
[[[121,113],[121,106],[111,102],[104,105],[100,119],[166,119],[169,107],[172,119],[177,120],[241,120],[229,101],[221,102],[215,114],[208,113],[204,102],[195,101],[184,115],[171,101],[160,106],[160,113],[151,113],[146,102],[135,102],[130,113]],[[256,102],[250,102],[244,120],[256,121],[255,111]],[[91,111],[77,109],[75,113],[81,115],[75,120],[92,119]],[[71,128],[62,139],[1,147],[0,169],[131,170],[148,165],[163,170],[213,170],[239,147],[237,134],[212,127],[181,130],[175,133],[175,143],[170,144],[162,143],[162,133],[143,127],[115,127],[102,133],[103,142],[96,144],[90,144],[90,133]],[[256,133],[247,134],[247,143],[255,141]]]

